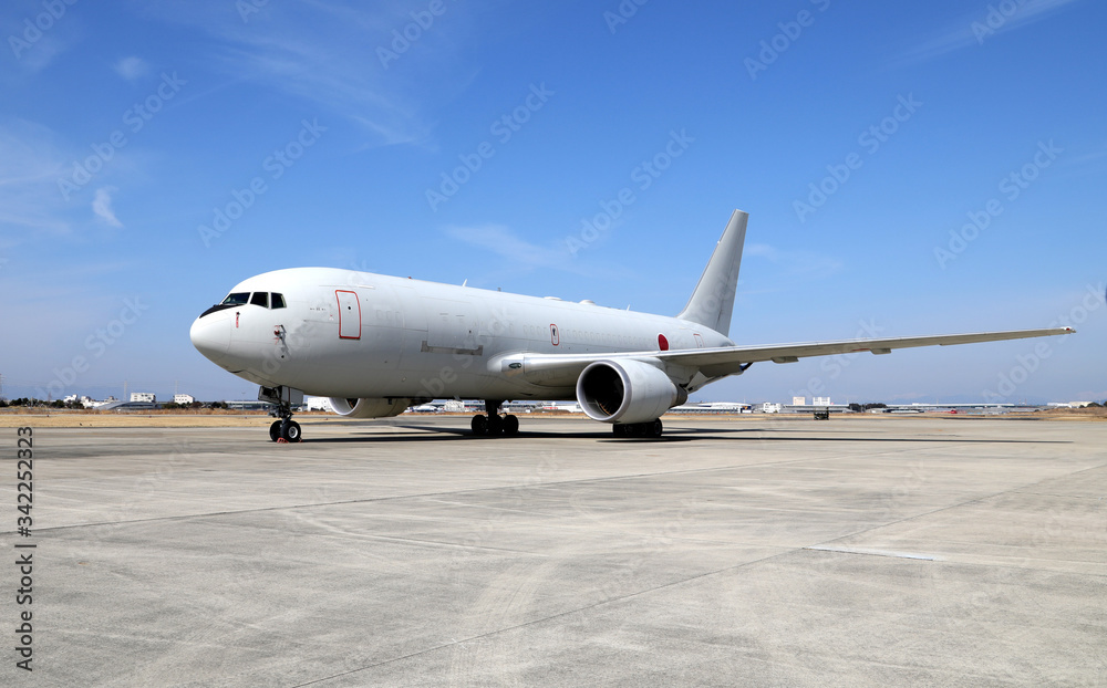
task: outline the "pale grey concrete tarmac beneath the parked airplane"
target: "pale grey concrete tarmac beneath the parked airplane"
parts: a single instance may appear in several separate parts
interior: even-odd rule
[[[467,426],[0,431],[0,685],[1107,686],[1107,424]]]

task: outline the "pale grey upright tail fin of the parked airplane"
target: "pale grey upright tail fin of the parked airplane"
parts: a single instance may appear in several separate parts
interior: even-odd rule
[[[742,263],[742,244],[746,240],[748,218],[749,215],[741,210],[731,215],[731,221],[726,223],[723,236],[715,244],[715,252],[711,254],[700,283],[676,317],[730,335],[734,292],[738,286],[738,265]]]

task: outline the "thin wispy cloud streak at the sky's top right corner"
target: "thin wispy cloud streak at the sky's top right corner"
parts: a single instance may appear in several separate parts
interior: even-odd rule
[[[982,45],[1000,33],[1021,29],[1082,0],[1026,0],[1015,4],[981,4],[973,12],[963,15],[955,24],[941,33],[908,50],[900,59],[902,63],[915,63],[945,55],[948,53]],[[1011,6],[1012,11],[1005,8]],[[1000,8],[1004,8],[1002,11]]]

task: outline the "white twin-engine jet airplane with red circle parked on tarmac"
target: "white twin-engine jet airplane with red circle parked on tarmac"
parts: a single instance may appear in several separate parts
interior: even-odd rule
[[[330,397],[350,418],[396,416],[435,398],[485,399],[475,435],[515,435],[508,399],[577,400],[617,436],[659,437],[689,394],[754,363],[969,344],[1070,327],[739,346],[727,336],[747,215],[735,210],[675,317],[330,268],[249,278],[193,323],[196,348],[261,386],[273,441],[299,441],[292,406]]]

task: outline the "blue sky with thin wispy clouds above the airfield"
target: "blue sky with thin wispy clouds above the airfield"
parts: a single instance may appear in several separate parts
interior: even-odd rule
[[[741,208],[738,343],[1079,334],[697,398],[1107,398],[1101,3],[371,4],[4,4],[6,396],[251,398],[188,327],[289,267],[676,313]]]

